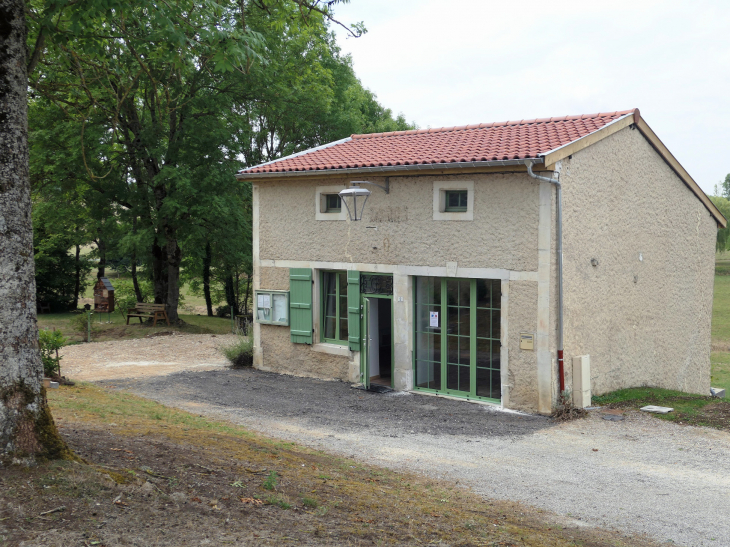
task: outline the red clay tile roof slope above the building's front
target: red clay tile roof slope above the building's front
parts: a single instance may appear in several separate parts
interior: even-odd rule
[[[635,110],[352,135],[294,156],[244,169],[243,174],[327,171],[537,158]]]

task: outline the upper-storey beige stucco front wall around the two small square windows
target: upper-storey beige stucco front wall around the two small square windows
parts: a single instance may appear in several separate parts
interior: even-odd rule
[[[474,220],[434,221],[433,182],[459,179],[474,181]],[[362,222],[315,220],[316,186],[346,180],[259,182],[260,258],[537,270],[538,183],[525,174],[391,177]]]

